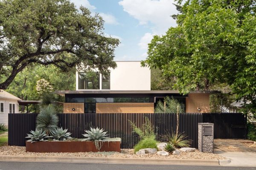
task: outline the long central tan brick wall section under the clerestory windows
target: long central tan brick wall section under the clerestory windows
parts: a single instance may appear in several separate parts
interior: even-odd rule
[[[96,113],[154,113],[154,103],[96,103]]]

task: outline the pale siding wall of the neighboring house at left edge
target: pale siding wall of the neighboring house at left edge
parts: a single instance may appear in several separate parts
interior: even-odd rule
[[[17,100],[0,99],[0,102],[3,102],[3,113],[0,113],[0,123],[8,126],[9,103],[15,103],[15,113],[19,113],[19,105]]]

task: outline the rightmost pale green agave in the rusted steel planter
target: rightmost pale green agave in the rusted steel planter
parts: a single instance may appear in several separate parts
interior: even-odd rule
[[[99,129],[98,127],[95,128],[90,128],[90,130],[84,130],[87,134],[82,134],[83,136],[87,137],[84,139],[85,141],[95,141],[95,140],[103,140],[107,137],[106,133],[104,132],[103,129]]]

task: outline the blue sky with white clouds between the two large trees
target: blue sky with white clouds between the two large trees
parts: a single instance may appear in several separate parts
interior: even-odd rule
[[[148,43],[175,27],[170,17],[177,14],[174,0],[71,0],[77,8],[85,6],[105,20],[106,36],[118,38],[115,61],[140,61],[147,57]]]

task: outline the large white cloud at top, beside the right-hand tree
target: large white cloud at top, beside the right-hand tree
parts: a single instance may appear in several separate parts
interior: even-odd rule
[[[174,0],[122,0],[119,5],[139,20],[140,25],[152,24],[154,34],[164,34],[169,27],[176,26],[175,20],[170,17],[177,14],[173,3]]]

